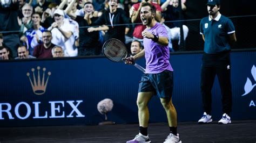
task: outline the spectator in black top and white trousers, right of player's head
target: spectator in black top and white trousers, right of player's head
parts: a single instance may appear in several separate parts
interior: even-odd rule
[[[181,9],[183,11],[186,10],[186,0],[181,0]],[[178,44],[180,44],[180,25],[179,22],[169,22],[173,20],[180,20],[179,17],[179,0],[167,0],[163,5],[161,5],[161,9],[163,9],[163,22],[165,25],[170,28],[171,31],[171,40],[179,40]],[[187,38],[188,27],[183,25],[183,35],[184,41]]]

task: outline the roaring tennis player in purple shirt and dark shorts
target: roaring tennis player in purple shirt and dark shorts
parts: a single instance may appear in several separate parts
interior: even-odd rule
[[[147,134],[149,123],[149,109],[147,104],[153,95],[160,98],[167,120],[169,123],[170,134],[164,142],[181,142],[177,134],[177,112],[172,104],[173,89],[173,69],[169,62],[169,44],[166,28],[156,22],[156,7],[150,3],[143,3],[140,10],[140,19],[146,29],[142,32],[144,49],[134,56],[126,58],[125,63],[132,64],[135,60],[145,55],[146,74],[142,76],[139,83],[137,97],[139,134],[134,142],[151,142]]]

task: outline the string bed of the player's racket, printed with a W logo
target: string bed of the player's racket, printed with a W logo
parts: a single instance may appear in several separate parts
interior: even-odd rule
[[[110,40],[104,45],[104,55],[111,61],[122,62],[127,56],[125,45],[118,40]]]

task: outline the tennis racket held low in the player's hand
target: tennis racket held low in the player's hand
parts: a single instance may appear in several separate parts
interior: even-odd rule
[[[102,48],[103,54],[107,59],[113,62],[124,62],[128,57],[127,48],[122,41],[118,39],[107,40]],[[139,66],[137,63],[133,62],[133,65],[145,73],[145,69]]]

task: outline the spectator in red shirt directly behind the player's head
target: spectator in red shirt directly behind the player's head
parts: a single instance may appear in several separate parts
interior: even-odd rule
[[[130,17],[131,17],[131,21],[132,23],[142,23],[142,20],[140,19],[140,9],[142,9],[142,4],[143,3],[150,3],[152,5],[154,5],[156,7],[156,20],[157,22],[160,22],[161,20],[161,6],[159,4],[156,4],[156,2],[151,2],[150,1],[146,1],[146,0],[142,0],[141,3],[137,3],[132,5],[132,8],[130,10]],[[145,25],[143,24],[137,24],[134,27],[134,31],[133,31],[133,40],[138,40],[140,41],[140,43],[143,45],[143,36],[142,36],[142,31],[144,31],[146,28]]]

